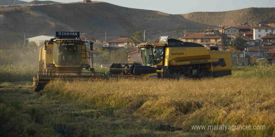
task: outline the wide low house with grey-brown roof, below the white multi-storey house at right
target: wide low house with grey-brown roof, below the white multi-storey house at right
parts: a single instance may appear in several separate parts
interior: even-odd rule
[[[258,56],[259,58],[266,58],[267,55],[265,52],[272,50],[274,47],[270,45],[261,45],[261,46],[254,46],[251,48],[248,48],[248,50],[243,50],[245,55],[249,56]]]

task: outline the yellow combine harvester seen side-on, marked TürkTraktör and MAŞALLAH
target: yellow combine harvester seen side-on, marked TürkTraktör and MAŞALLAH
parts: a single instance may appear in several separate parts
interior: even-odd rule
[[[218,47],[183,42],[160,36],[159,43],[139,44],[143,64],[113,64],[110,73],[116,76],[142,78],[201,78],[231,75],[231,58]]]

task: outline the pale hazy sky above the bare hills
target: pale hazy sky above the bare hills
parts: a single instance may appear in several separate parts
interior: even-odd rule
[[[32,0],[22,0],[30,2]],[[40,0],[45,1],[45,0]],[[82,0],[52,0],[55,2],[79,2]],[[248,7],[275,7],[274,0],[97,0],[118,6],[154,10],[168,14],[190,12],[221,12]]]

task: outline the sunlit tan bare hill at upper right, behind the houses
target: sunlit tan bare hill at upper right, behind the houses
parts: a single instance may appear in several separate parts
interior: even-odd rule
[[[220,24],[228,26],[258,25],[275,21],[275,8],[252,7],[226,12],[192,12],[180,16],[189,21],[215,26]]]

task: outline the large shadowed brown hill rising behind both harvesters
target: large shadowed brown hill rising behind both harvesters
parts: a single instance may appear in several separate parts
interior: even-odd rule
[[[0,24],[2,31],[32,35],[80,31],[87,33],[83,37],[90,36],[101,40],[105,39],[105,31],[107,40],[112,40],[143,30],[157,38],[159,35],[175,35],[173,26],[177,24],[190,29],[208,27],[172,14],[121,7],[106,2],[0,7]],[[151,35],[146,34],[153,38]],[[6,41],[9,37],[2,36],[2,39]]]

